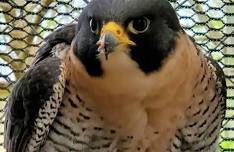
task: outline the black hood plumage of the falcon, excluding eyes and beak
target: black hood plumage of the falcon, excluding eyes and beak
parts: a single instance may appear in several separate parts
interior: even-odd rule
[[[140,17],[150,20],[147,31],[136,34],[128,31],[129,23]],[[90,20],[97,22],[97,33],[90,28]],[[129,56],[145,73],[159,70],[163,60],[173,52],[177,33],[182,31],[173,7],[167,0],[93,0],[79,18],[74,52],[87,72],[100,76],[104,70],[97,58],[97,41],[102,26],[114,21],[121,25],[135,46]]]

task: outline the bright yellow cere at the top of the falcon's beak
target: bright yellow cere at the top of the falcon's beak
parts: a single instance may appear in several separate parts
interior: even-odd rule
[[[125,33],[124,29],[116,22],[111,21],[103,25],[101,30],[101,36],[108,32],[111,32],[119,40],[120,43],[136,45],[133,41],[131,41],[128,38],[128,35]]]

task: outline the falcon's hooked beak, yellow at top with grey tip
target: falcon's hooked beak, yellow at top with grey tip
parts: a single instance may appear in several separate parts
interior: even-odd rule
[[[101,29],[101,36],[97,42],[97,45],[99,45],[98,52],[104,53],[107,60],[108,55],[120,44],[136,45],[128,38],[120,25],[115,22],[108,22]]]

